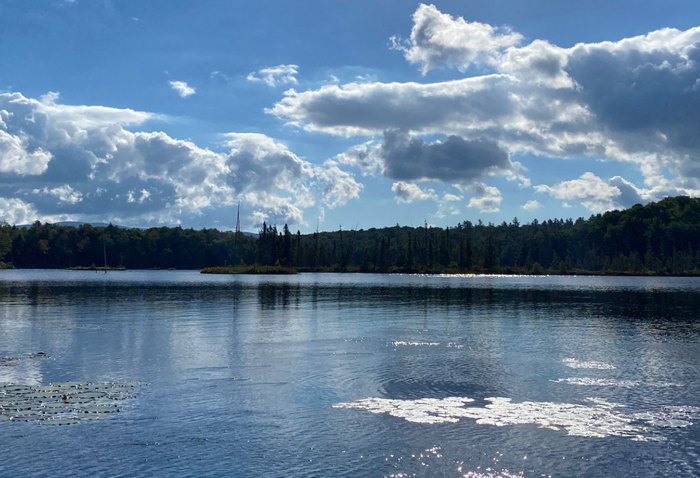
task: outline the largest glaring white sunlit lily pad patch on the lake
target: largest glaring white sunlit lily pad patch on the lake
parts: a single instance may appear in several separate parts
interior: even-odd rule
[[[413,423],[456,423],[471,418],[482,425],[525,425],[565,431],[584,437],[619,436],[638,441],[663,440],[660,428],[688,427],[700,419],[700,407],[663,407],[657,411],[623,413],[624,405],[600,398],[587,404],[553,402],[513,402],[510,398],[487,398],[487,405],[472,406],[469,397],[418,400],[366,398],[339,403],[334,408],[366,410],[388,414]]]

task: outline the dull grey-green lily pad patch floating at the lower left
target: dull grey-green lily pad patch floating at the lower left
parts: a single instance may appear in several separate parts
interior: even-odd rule
[[[0,421],[71,425],[109,418],[136,396],[140,382],[0,383]]]

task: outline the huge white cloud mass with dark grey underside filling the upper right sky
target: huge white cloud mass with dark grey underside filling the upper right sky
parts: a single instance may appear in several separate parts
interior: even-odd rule
[[[334,135],[376,138],[398,130],[487,141],[514,157],[631,162],[644,175],[647,197],[700,190],[700,27],[562,48],[544,40],[523,44],[510,30],[454,18],[431,5],[418,7],[413,20],[411,38],[394,39],[409,61],[424,72],[473,71],[469,66],[479,63],[486,74],[289,90],[268,112]],[[351,157],[378,164],[371,154]],[[385,160],[379,164],[389,177],[409,179]],[[516,164],[501,173],[529,187]],[[442,180],[435,176],[426,177]]]

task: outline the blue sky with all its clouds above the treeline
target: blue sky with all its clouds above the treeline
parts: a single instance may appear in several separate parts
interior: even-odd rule
[[[0,220],[311,232],[700,196],[697,0],[0,0]]]

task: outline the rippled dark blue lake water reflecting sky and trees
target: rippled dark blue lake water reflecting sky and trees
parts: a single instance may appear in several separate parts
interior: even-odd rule
[[[42,413],[134,390],[2,477],[700,476],[697,278],[2,271],[0,331]]]

